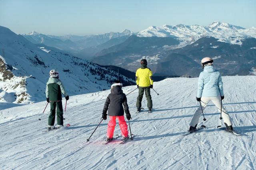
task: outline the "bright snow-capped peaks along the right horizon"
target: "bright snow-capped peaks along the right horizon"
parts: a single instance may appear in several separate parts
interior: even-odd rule
[[[241,40],[248,37],[256,38],[256,27],[244,29],[224,22],[213,22],[208,26],[200,25],[163,25],[150,26],[140,31],[139,37],[177,37],[181,45],[188,45],[202,37],[214,37],[219,41],[241,45]]]

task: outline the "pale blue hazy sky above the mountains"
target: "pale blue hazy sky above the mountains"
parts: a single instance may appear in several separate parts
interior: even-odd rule
[[[92,35],[213,21],[256,27],[256,0],[0,0],[0,25],[16,34]]]

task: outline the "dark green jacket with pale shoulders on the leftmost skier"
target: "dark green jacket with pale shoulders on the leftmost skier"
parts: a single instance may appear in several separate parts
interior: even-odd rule
[[[67,97],[68,94],[64,88],[63,83],[54,77],[50,77],[46,83],[46,98],[49,98],[50,102],[56,102],[62,100],[61,93],[64,97]]]

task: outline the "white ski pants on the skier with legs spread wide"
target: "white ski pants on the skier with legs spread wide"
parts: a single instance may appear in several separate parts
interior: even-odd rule
[[[218,108],[218,111],[220,112],[220,106],[221,106],[220,96],[217,96],[217,97],[203,97],[202,96],[201,97],[201,105],[202,105],[203,111],[204,111],[204,109],[206,108],[207,104],[210,101],[212,101],[215,104],[215,106]],[[194,116],[192,117],[192,120],[190,122],[190,126],[195,127],[195,125],[198,124],[199,118],[202,115],[202,109],[201,109],[201,106],[199,106],[199,108],[196,110],[196,112],[194,113]],[[232,125],[232,122],[231,122],[231,119],[228,115],[228,112],[223,107],[223,105],[222,105],[221,116],[223,118],[224,123],[226,123],[228,126]]]

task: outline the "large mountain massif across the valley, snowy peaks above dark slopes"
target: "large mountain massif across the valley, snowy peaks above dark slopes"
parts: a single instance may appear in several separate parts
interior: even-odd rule
[[[250,75],[256,68],[256,27],[244,29],[216,21],[207,26],[163,25],[150,26],[139,33],[131,33],[128,30],[123,32],[127,33],[119,33],[119,37],[115,36],[109,41],[100,41],[102,37],[109,37],[105,34],[85,37],[88,40],[86,42],[80,39],[80,43],[83,41],[92,45],[80,51],[73,51],[72,54],[100,65],[120,66],[132,72],[139,67],[141,59],[147,59],[148,67],[159,76],[198,76],[201,70],[200,60],[206,56],[215,58],[215,66],[220,70],[229,63],[235,63],[234,67],[239,68],[235,71],[228,71],[226,68],[222,72],[224,75]],[[210,42],[208,37],[214,39],[210,38]],[[98,39],[98,45],[89,41],[90,39]],[[205,48],[206,46],[208,48]],[[183,50],[185,47],[186,51]],[[198,54],[192,55],[190,53],[193,53],[194,47],[201,49],[197,48]],[[166,61],[169,64],[166,64]],[[184,62],[188,64],[184,66]],[[164,70],[161,70],[162,66]]]

